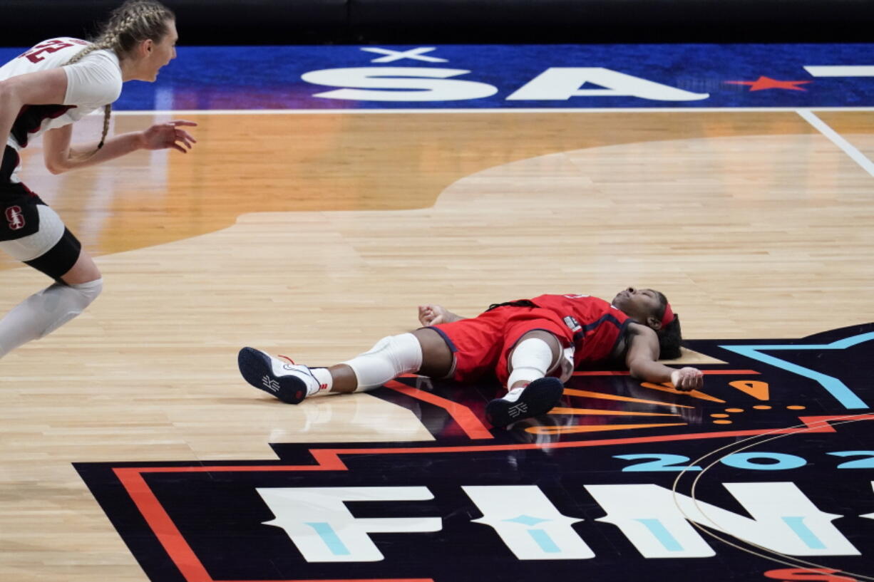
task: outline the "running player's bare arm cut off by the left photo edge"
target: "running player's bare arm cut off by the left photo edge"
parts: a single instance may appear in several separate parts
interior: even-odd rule
[[[60,69],[0,81],[0,146],[5,147],[21,107],[63,103],[65,96],[66,73]]]

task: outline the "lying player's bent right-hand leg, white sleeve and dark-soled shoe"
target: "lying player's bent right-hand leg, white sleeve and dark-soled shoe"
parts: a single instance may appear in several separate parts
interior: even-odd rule
[[[492,425],[540,416],[558,404],[564,385],[549,374],[558,369],[562,351],[558,336],[545,329],[533,329],[518,339],[507,357],[508,391],[486,405]]]

